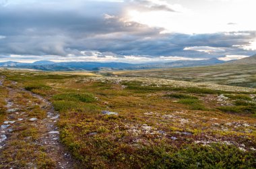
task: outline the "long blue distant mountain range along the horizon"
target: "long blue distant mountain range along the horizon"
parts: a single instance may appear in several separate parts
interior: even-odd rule
[[[71,71],[71,70],[133,70],[149,68],[179,68],[191,66],[208,66],[224,63],[217,58],[209,60],[182,60],[175,62],[162,62],[150,64],[128,64],[123,62],[52,62],[40,60],[34,63],[0,62],[0,67],[5,68],[30,68],[46,71]]]

